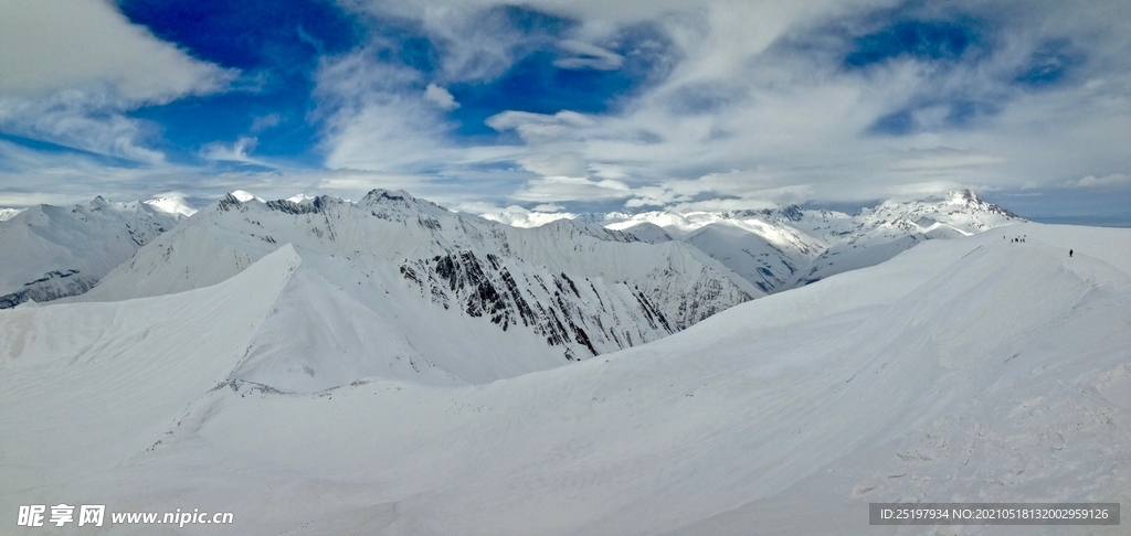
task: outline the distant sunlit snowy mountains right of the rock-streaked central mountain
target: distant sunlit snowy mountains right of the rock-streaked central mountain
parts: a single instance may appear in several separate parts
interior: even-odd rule
[[[485,217],[523,227],[576,219],[631,232],[653,244],[685,241],[767,293],[879,264],[924,240],[968,236],[1025,221],[977,199],[969,190],[914,202],[886,201],[851,217],[797,205],[636,214],[508,210]]]

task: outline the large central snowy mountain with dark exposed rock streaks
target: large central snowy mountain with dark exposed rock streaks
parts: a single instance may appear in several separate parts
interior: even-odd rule
[[[230,195],[72,300],[214,285],[284,245],[300,266],[233,376],[279,390],[370,376],[486,383],[654,341],[763,296],[680,241],[570,220],[518,229],[375,190],[356,203]]]

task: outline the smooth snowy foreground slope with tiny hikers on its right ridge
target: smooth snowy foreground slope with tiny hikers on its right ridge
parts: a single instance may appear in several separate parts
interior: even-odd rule
[[[1131,231],[1016,229],[478,386],[233,381],[291,246],[214,287],[0,311],[0,512],[14,534],[59,502],[235,519],[114,534],[1126,534],[866,525],[882,501],[1131,503]]]

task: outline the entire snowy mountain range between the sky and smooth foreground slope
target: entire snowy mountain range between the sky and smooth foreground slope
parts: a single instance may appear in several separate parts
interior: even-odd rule
[[[852,217],[791,205],[533,228],[489,218],[383,190],[357,202],[234,192],[199,211],[176,197],[40,205],[0,222],[0,247],[14,252],[0,305],[190,291],[288,245],[300,267],[233,379],[280,392],[371,375],[478,384],[655,341],[922,240],[1022,221],[968,191]]]

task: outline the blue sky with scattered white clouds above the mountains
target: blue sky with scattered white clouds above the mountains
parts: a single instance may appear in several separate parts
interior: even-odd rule
[[[0,205],[232,190],[451,208],[1131,221],[1131,2],[0,0]]]

